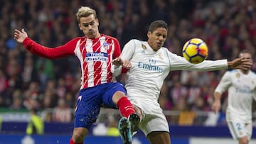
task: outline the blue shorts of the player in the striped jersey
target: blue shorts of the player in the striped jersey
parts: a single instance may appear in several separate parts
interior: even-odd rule
[[[126,89],[121,83],[110,82],[95,87],[81,89],[75,109],[74,127],[90,129],[100,113],[100,107],[117,109],[112,97],[115,92],[121,91],[126,94]]]

